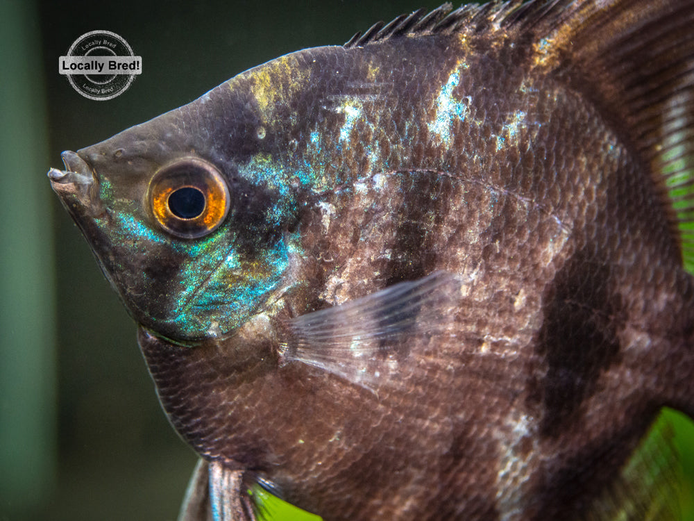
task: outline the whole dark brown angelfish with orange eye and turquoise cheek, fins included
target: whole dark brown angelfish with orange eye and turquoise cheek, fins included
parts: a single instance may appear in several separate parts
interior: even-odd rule
[[[205,461],[182,519],[256,482],[325,520],[645,518],[629,457],[694,414],[693,21],[418,11],[65,152]]]

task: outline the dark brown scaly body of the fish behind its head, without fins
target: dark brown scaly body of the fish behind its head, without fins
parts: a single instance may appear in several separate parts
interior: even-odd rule
[[[387,128],[396,100],[425,133],[434,114],[422,90],[445,84],[443,63],[461,58],[475,71],[458,86],[476,100],[470,123],[447,148],[416,136],[381,190],[354,165],[362,176],[322,199],[335,208],[327,226],[323,213],[302,215],[295,276],[322,283],[276,316],[437,270],[462,274],[455,336],[428,347],[432,359],[408,346],[398,381],[374,395],[298,363],[278,370],[279,339],[252,325],[190,351],[141,336],[164,407],[198,451],[261,472],[325,519],[495,519],[516,501],[526,519],[579,511],[659,406],[692,385],[691,354],[678,354],[691,340],[691,281],[635,151],[579,93],[514,67],[524,51],[465,56],[457,40],[362,51],[407,57],[374,104],[384,133],[398,135]],[[421,78],[432,54],[441,74]],[[558,106],[563,117],[547,120]],[[532,123],[495,154],[490,134],[517,110]],[[648,379],[645,367],[672,374]]]

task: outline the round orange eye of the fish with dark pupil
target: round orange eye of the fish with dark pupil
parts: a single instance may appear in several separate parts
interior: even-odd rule
[[[154,174],[148,201],[155,220],[185,239],[212,233],[229,211],[229,190],[219,170],[198,158],[183,158]]]

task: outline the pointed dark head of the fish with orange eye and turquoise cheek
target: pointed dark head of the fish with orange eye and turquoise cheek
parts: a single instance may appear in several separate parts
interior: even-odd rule
[[[65,151],[65,169],[49,172],[130,315],[179,342],[242,325],[281,290],[289,266],[294,194],[291,183],[280,193],[244,169],[262,154],[257,104],[246,94],[225,83]],[[280,170],[271,160],[264,167]]]

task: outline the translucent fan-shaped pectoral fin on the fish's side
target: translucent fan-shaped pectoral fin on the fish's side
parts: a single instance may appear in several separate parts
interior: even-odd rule
[[[435,272],[395,284],[289,322],[283,356],[373,390],[392,385],[412,349],[428,349],[447,334],[459,303],[460,281]]]

